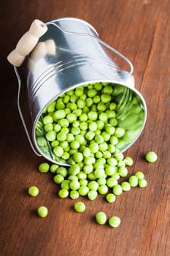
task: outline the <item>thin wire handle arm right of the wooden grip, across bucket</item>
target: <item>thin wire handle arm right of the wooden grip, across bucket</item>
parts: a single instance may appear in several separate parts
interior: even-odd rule
[[[49,21],[47,23],[45,23],[46,25],[53,25],[56,28],[60,29],[61,31],[63,31],[66,34],[76,34],[76,35],[80,35],[80,36],[87,36],[87,37],[93,37],[95,38],[98,42],[101,43],[101,45],[104,45],[106,48],[108,48],[109,50],[112,50],[113,53],[117,54],[118,56],[120,56],[120,58],[122,58],[124,61],[126,61],[130,67],[130,71],[129,73],[132,74],[134,71],[134,66],[131,63],[131,61],[129,61],[128,58],[126,58],[122,53],[120,53],[118,50],[116,50],[115,48],[112,48],[112,46],[108,45],[106,42],[104,42],[103,40],[101,40],[98,37],[93,36],[92,34],[86,34],[86,33],[77,33],[77,32],[71,32],[71,31],[66,31],[65,29],[61,29],[60,26],[58,26],[57,24]]]

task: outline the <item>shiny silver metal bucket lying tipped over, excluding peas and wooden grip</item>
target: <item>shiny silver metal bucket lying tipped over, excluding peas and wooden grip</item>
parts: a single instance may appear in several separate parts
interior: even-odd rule
[[[98,82],[108,82],[115,88],[117,126],[125,129],[125,135],[117,148],[125,151],[139,138],[147,117],[144,98],[134,88],[133,65],[125,56],[101,41],[93,26],[84,20],[58,18],[47,22],[46,26],[47,32],[39,38],[36,47],[23,63],[33,122],[31,138],[18,104],[34,152],[51,162],[68,165],[54,156],[49,142],[45,146],[37,143],[39,132],[36,129],[41,129],[39,122],[42,120],[42,112],[66,91]],[[107,48],[128,62],[129,72],[117,67]],[[15,72],[20,83],[16,67]]]

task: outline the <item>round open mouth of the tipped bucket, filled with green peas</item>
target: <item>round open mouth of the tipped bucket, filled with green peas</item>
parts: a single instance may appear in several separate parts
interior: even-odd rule
[[[96,82],[61,94],[34,127],[36,148],[61,165],[110,158],[139,137],[146,110],[135,89]]]

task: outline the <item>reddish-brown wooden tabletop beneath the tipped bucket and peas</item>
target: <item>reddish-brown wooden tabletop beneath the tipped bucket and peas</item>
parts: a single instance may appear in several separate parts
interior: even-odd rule
[[[1,1],[1,256],[170,255],[169,15],[169,0]],[[129,175],[142,170],[147,188],[131,189],[113,204],[102,196],[95,201],[82,198],[87,208],[83,214],[74,212],[73,200],[58,198],[50,173],[37,171],[42,159],[34,155],[26,139],[17,109],[17,80],[6,60],[32,20],[66,16],[87,20],[101,39],[132,61],[136,89],[148,108],[142,135],[125,152],[134,159]],[[154,164],[143,158],[150,150],[158,154]],[[27,193],[33,184],[40,190],[36,198]],[[40,205],[49,208],[46,219],[36,216]],[[97,225],[97,211],[119,216],[120,227]]]

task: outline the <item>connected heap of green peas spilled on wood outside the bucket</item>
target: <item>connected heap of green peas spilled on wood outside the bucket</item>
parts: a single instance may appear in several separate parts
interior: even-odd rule
[[[97,159],[95,163],[83,165],[74,164],[70,167],[62,167],[56,164],[49,165],[46,162],[39,165],[39,171],[47,173],[50,170],[54,174],[53,181],[60,184],[58,196],[77,199],[87,196],[89,200],[95,200],[100,195],[107,195],[108,203],[113,203],[118,195],[127,192],[131,187],[146,187],[147,181],[141,171],[128,178],[128,181],[120,181],[128,175],[127,165],[133,164],[131,157],[123,157],[122,153],[115,154],[109,159]]]

